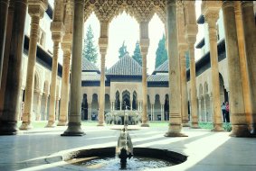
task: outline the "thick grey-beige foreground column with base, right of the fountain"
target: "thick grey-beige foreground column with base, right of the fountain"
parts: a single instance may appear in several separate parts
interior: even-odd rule
[[[169,129],[166,137],[184,137],[181,133],[180,62],[178,57],[176,1],[166,0],[167,53],[169,59]]]

